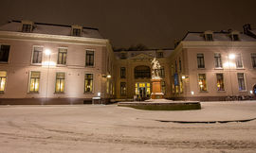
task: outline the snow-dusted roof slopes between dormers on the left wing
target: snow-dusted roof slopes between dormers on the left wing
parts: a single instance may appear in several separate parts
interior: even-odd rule
[[[72,26],[34,23],[33,30],[30,33],[71,36],[71,29]],[[0,31],[22,32],[22,22],[11,21],[6,25],[0,26]],[[82,27],[81,37],[102,39],[99,29],[92,27]]]

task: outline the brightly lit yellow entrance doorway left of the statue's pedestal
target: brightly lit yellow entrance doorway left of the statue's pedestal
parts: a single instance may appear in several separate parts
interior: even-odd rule
[[[137,95],[137,99],[139,100],[145,100],[150,98],[150,94],[151,94],[150,83],[137,82],[135,93]]]

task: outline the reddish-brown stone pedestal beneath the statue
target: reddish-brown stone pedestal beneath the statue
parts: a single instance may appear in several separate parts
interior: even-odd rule
[[[161,92],[161,78],[152,78],[152,99],[162,99],[163,93]]]

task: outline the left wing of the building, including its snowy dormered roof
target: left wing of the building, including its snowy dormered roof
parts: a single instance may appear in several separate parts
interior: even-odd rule
[[[114,53],[98,29],[13,21],[0,26],[0,47],[0,104],[114,97]]]

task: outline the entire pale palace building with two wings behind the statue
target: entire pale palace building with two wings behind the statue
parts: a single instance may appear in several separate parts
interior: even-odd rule
[[[152,91],[155,57],[165,98],[255,98],[256,30],[250,25],[244,32],[188,32],[174,49],[113,51],[97,28],[11,21],[0,26],[0,104],[143,100]]]

